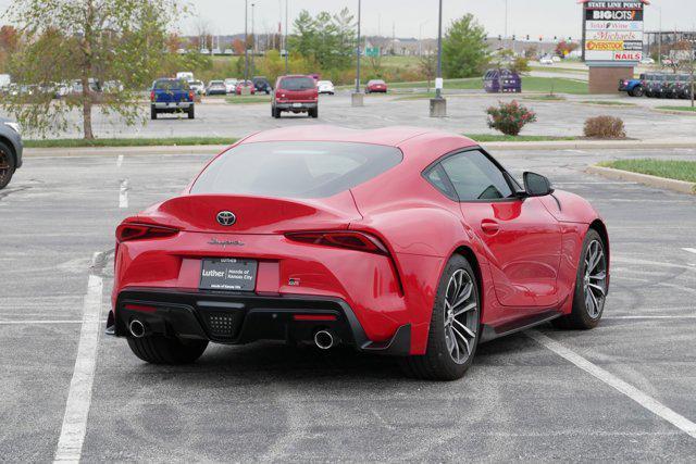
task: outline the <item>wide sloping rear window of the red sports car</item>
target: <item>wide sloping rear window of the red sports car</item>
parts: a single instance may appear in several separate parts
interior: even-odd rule
[[[246,143],[213,161],[191,193],[325,198],[378,176],[402,158],[397,148],[368,143]]]

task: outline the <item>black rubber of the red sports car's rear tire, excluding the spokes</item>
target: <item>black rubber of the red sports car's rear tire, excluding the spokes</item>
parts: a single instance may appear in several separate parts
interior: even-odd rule
[[[458,275],[460,275],[459,273],[465,273],[465,275],[469,276],[468,283],[471,284],[471,297],[473,298],[472,301],[475,302],[475,308],[473,310],[463,313],[468,317],[467,325],[469,326],[471,324],[472,327],[474,327],[472,330],[474,337],[469,339],[469,342],[467,343],[469,347],[467,350],[467,358],[459,360],[459,362],[455,361],[455,354],[451,352],[452,350],[448,348],[448,341],[451,342],[451,339],[448,339],[448,336],[446,335],[447,329],[445,324],[446,312],[448,312],[445,301],[448,296],[452,294],[449,292],[450,279],[452,279],[456,273]],[[462,287],[467,288],[464,285],[462,285]],[[481,314],[480,301],[478,283],[471,264],[465,258],[459,254],[453,255],[445,266],[439,285],[437,286],[437,294],[435,297],[435,304],[433,305],[433,315],[431,317],[431,327],[427,335],[427,348],[425,354],[406,356],[401,359],[400,362],[403,372],[411,377],[426,380],[456,380],[461,378],[471,366],[478,344],[481,331],[478,324]],[[469,300],[465,300],[464,303],[469,304]],[[453,333],[450,331],[450,336],[452,336],[455,342],[458,343],[457,350],[460,348],[462,349],[461,353],[463,355],[464,344],[459,343],[458,340],[460,339],[457,338]],[[455,349],[453,346],[451,347]],[[459,351],[457,351],[457,355],[459,355]]]

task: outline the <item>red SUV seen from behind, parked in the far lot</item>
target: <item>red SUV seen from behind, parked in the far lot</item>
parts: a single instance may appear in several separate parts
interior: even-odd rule
[[[281,76],[275,81],[271,115],[281,117],[283,111],[319,116],[319,91],[311,76]]]

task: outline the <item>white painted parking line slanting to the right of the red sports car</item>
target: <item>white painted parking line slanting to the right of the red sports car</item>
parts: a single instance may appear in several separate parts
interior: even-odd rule
[[[646,410],[650,411],[652,414],[669,422],[674,427],[688,434],[692,438],[696,438],[696,424],[694,424],[683,415],[678,414],[671,409],[667,407],[664,404],[660,403],[655,398],[644,393],[643,391],[638,390],[634,386],[626,384],[625,381],[621,380],[619,377],[614,376],[608,371],[605,371],[598,365],[593,364],[592,362],[587,361],[586,359],[575,353],[571,349],[545,336],[540,331],[527,330],[525,334],[527,335],[527,337],[536,340],[537,343],[542,344],[545,348],[548,348],[559,356],[566,359],[567,361],[570,361],[581,369],[595,376],[596,378],[604,381],[608,386],[616,388],[621,393],[625,394],[626,397],[629,397],[630,399],[632,399],[633,401],[635,401]]]

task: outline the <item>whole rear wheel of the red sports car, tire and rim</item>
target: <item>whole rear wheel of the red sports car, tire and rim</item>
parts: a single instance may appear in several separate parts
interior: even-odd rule
[[[480,338],[476,274],[469,261],[452,256],[440,278],[424,355],[408,356],[408,375],[428,380],[461,378],[474,359]]]

